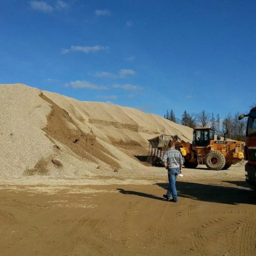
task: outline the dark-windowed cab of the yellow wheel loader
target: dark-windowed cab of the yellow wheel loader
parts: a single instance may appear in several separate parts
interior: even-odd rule
[[[193,144],[195,147],[207,147],[214,139],[214,130],[210,127],[195,127],[193,131]]]

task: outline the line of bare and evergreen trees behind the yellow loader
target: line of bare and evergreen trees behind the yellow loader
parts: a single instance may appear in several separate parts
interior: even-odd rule
[[[253,103],[249,108],[256,107],[256,103]],[[230,112],[224,119],[220,118],[219,114],[214,114],[202,110],[200,113],[189,113],[184,110],[181,118],[177,118],[174,111],[166,111],[164,118],[173,121],[175,123],[194,127],[210,126],[215,128],[215,135],[224,137],[224,133],[227,132],[227,138],[238,141],[245,141],[245,129],[247,119],[238,120],[241,113],[236,112],[231,114]]]

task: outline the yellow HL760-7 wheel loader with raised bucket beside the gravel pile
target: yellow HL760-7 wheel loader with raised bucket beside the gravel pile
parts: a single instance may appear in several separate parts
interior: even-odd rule
[[[196,127],[193,129],[193,141],[185,142],[177,135],[160,135],[149,139],[149,162],[161,163],[163,152],[168,150],[168,143],[175,142],[175,148],[180,150],[184,159],[184,166],[196,168],[198,164],[205,164],[210,170],[226,170],[232,164],[244,159],[244,143],[242,141],[227,141],[214,139],[214,128]]]

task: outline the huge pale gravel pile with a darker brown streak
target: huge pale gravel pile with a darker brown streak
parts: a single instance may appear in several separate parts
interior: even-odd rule
[[[22,84],[0,85],[1,179],[78,179],[145,166],[160,134],[191,140],[192,129],[137,109],[82,102]]]

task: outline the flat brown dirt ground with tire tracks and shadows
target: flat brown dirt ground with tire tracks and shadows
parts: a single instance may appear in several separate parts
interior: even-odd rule
[[[184,169],[178,203],[163,199],[167,176],[154,168],[141,185],[0,185],[1,255],[256,255],[244,166]]]

